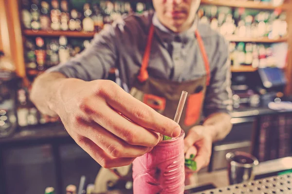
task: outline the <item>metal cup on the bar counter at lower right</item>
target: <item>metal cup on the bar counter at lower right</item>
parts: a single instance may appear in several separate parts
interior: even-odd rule
[[[229,184],[249,182],[255,178],[253,170],[258,160],[246,152],[229,152],[226,154],[228,162]]]

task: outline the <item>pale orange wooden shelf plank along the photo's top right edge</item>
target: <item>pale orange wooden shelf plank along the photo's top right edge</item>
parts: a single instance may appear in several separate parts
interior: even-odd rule
[[[201,0],[201,4],[266,10],[288,9],[288,6],[283,5],[283,0]]]

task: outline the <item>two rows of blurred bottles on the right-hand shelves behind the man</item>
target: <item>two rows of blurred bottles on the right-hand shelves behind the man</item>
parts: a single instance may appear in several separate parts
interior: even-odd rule
[[[273,48],[287,41],[285,12],[201,5],[199,16],[229,41],[232,72],[278,65]]]

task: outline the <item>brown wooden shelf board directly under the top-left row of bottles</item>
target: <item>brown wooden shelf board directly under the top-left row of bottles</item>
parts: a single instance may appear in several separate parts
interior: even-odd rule
[[[96,32],[77,32],[77,31],[37,31],[24,30],[23,34],[26,36],[67,36],[67,37],[79,37],[79,38],[92,38]]]

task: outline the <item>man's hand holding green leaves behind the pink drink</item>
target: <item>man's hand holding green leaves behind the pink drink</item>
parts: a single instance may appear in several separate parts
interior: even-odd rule
[[[195,126],[189,130],[184,138],[185,158],[189,159],[191,154],[195,155],[194,160],[197,162],[197,170],[192,171],[185,168],[186,176],[198,172],[201,168],[206,167],[210,162],[212,151],[212,135],[209,126]]]

